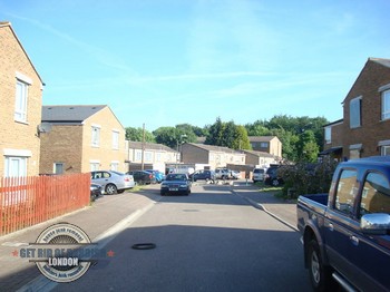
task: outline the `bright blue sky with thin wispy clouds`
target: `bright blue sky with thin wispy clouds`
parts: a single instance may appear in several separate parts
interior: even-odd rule
[[[43,105],[108,105],[125,127],[217,117],[342,118],[369,57],[390,58],[388,0],[0,0]]]

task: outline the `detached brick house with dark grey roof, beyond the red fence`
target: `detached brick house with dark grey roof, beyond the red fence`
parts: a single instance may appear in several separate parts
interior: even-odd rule
[[[43,106],[40,173],[125,172],[125,134],[106,105]]]

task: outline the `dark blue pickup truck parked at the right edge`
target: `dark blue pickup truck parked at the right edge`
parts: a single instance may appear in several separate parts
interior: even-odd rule
[[[390,157],[340,163],[329,194],[298,199],[315,291],[390,291]],[[334,281],[335,280],[335,281]]]

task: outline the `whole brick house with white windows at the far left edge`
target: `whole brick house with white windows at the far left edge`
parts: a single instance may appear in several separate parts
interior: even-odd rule
[[[0,176],[38,175],[45,84],[9,22],[0,22]]]

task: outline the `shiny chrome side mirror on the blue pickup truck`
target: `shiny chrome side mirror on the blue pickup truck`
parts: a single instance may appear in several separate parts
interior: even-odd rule
[[[365,214],[360,220],[364,234],[386,235],[390,232],[390,215],[386,213]]]

